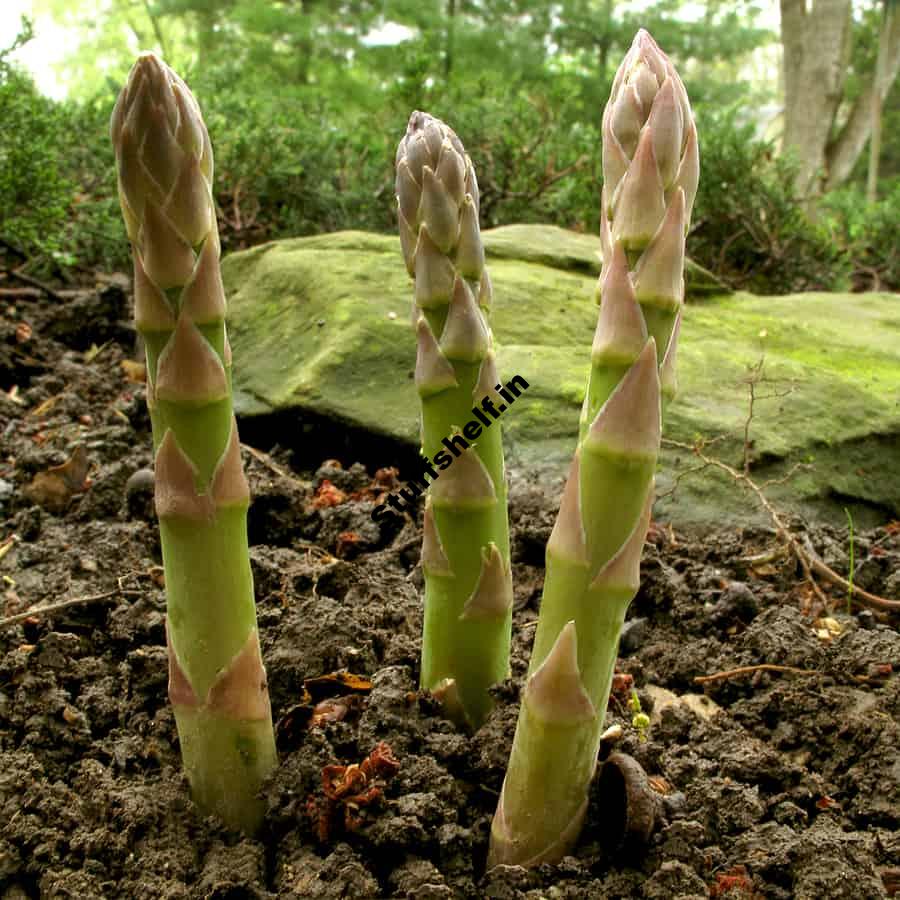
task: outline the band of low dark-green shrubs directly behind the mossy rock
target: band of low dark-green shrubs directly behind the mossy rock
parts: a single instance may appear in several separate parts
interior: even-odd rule
[[[484,227],[548,223],[591,234],[599,218],[599,113],[564,83],[477,76],[429,91],[415,72],[356,105],[328,86],[254,81],[221,60],[191,79],[216,143],[226,251],[262,241],[395,230],[393,154],[414,107],[452,121],[481,180]],[[107,140],[112,92],[54,103],[0,53],[0,237],[38,267],[127,270]],[[900,187],[867,207],[829,195],[810,222],[789,160],[718,105],[698,111],[703,178],[692,258],[736,288],[781,294],[900,289]],[[877,279],[877,281],[876,281]]]

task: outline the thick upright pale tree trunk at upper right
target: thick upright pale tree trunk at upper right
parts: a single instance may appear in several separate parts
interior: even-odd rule
[[[783,150],[800,162],[797,188],[814,197],[844,90],[851,0],[781,0],[784,47]]]

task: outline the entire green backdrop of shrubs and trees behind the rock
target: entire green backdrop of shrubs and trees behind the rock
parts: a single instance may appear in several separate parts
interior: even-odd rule
[[[790,161],[723,112],[771,99],[741,80],[747,54],[774,38],[756,27],[752,0],[705,0],[694,19],[681,0],[640,13],[614,0],[109,0],[99,16],[88,5],[35,0],[78,35],[66,63],[75,100],[41,97],[0,52],[0,228],[45,266],[128,265],[107,123],[135,46],[163,53],[202,104],[226,250],[346,228],[393,232],[394,150],[413,109],[464,141],[485,227],[596,233],[600,112],[613,63],[644,26],[698,110],[703,176],[689,253],[760,292],[839,287],[851,273],[860,288],[898,284],[896,189],[874,208],[852,192],[829,196],[810,224]],[[880,7],[863,6],[854,72],[873,61],[867,36]],[[379,39],[385,26],[393,31]],[[892,116],[889,101],[886,187],[900,134]],[[863,166],[854,177],[864,175]]]

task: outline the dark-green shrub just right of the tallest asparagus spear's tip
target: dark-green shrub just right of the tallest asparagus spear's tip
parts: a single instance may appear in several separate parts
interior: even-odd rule
[[[760,294],[839,290],[849,260],[827,222],[812,221],[794,189],[790,158],[738,124],[733,111],[701,110],[702,178],[691,257],[735,287]]]

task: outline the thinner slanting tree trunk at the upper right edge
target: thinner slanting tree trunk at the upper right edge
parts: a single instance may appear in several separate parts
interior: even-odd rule
[[[847,180],[866,146],[866,141],[870,135],[875,138],[872,128],[875,109],[877,107],[880,110],[898,74],[900,74],[900,14],[895,0],[887,0],[878,40],[875,76],[857,97],[846,124],[826,153],[827,190],[836,188]]]

